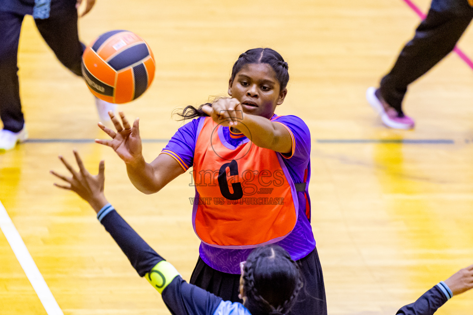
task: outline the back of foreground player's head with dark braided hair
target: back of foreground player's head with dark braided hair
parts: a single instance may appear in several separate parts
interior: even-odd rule
[[[252,315],[286,314],[301,288],[298,265],[278,245],[254,249],[243,265],[240,293]]]

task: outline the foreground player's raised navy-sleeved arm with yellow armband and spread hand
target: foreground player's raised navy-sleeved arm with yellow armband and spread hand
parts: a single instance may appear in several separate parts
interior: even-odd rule
[[[141,277],[144,276],[162,294],[171,313],[176,315],[213,315],[222,299],[185,282],[174,266],[149,247],[107,202],[104,194],[104,161],[99,163],[98,174],[91,175],[85,169],[79,153],[74,151],[74,155],[79,171],[74,170],[70,163],[60,156],[61,162],[70,171],[71,176],[64,176],[52,170],[51,173],[54,176],[65,181],[65,184],[54,185],[75,192],[92,206],[97,213],[97,219],[128,257],[136,272]]]

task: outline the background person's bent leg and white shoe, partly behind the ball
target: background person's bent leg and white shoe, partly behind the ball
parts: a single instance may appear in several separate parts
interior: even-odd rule
[[[82,53],[85,45],[79,41],[75,1],[51,1],[50,16],[35,19],[36,27],[44,41],[54,51],[61,63],[70,71],[82,77]],[[115,111],[116,105],[96,98],[100,119],[109,121],[108,111]]]

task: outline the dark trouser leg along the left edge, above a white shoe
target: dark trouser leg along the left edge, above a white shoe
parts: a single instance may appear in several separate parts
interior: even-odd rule
[[[25,123],[18,84],[18,41],[23,16],[0,11],[0,117],[3,128],[19,132]]]

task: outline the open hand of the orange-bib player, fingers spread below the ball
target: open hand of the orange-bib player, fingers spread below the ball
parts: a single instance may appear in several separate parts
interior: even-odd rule
[[[110,115],[117,132],[105,127],[101,122],[99,122],[98,127],[104,130],[104,132],[112,139],[95,139],[95,142],[101,145],[107,145],[114,149],[118,156],[127,164],[133,164],[134,162],[140,161],[140,159],[143,158],[141,155],[142,146],[139,129],[140,119],[135,119],[133,127],[131,127],[130,123],[125,118],[123,111],[120,111],[119,114],[122,119],[122,126],[112,111],[109,111],[108,114]]]

